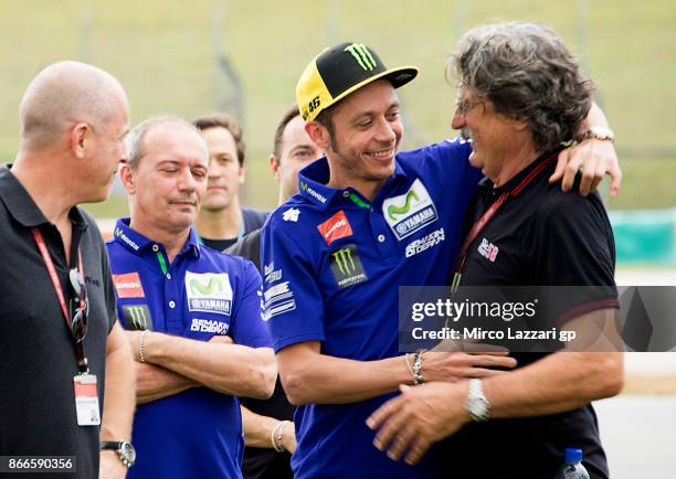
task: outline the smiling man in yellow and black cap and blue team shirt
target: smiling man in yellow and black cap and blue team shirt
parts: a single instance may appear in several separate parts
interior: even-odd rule
[[[394,89],[416,74],[341,43],[316,56],[296,88],[305,129],[326,157],[300,171],[299,193],[263,232],[263,299],[284,388],[299,406],[298,479],[434,477],[429,458],[409,466],[378,451],[366,419],[400,384],[515,365],[501,354],[399,352],[398,286],[448,283],[482,177],[467,141],[397,153]]]

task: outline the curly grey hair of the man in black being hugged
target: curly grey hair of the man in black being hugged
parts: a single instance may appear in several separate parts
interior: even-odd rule
[[[525,121],[541,152],[575,137],[594,89],[561,38],[537,23],[472,29],[446,64],[452,76],[496,113]]]

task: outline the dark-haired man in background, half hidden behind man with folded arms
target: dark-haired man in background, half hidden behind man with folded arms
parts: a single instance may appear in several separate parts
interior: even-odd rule
[[[228,114],[215,114],[198,118],[193,125],[209,148],[209,183],[196,228],[202,243],[221,252],[262,227],[267,213],[242,207],[240,203],[246,168],[237,120]]]

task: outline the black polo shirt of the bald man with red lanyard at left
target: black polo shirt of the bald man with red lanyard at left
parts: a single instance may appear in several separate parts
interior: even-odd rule
[[[89,300],[84,349],[91,372],[98,379],[103,413],[106,339],[115,322],[115,291],[94,221],[78,207],[71,210],[70,219],[73,240],[68,265],[56,227],[10,170],[0,167],[0,456],[76,456],[75,475],[49,476],[89,479],[98,475],[99,428],[77,425],[75,352],[31,233],[32,226],[42,232],[66,302],[75,296],[68,269],[76,266],[81,248]]]

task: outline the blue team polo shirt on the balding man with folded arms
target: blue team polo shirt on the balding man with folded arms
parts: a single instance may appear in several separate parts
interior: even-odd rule
[[[106,244],[126,329],[270,347],[261,319],[261,275],[253,264],[199,244],[193,230],[169,265],[161,244],[119,220]],[[236,397],[193,387],[136,408],[136,465],[129,478],[241,478],[244,438]]]

